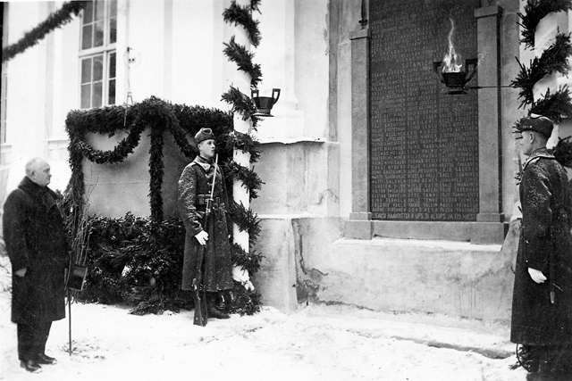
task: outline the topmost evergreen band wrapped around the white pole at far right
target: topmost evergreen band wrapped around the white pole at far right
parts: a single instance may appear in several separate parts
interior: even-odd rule
[[[526,48],[534,49],[534,33],[538,23],[550,12],[562,12],[572,10],[570,0],[528,0],[525,5],[525,14],[518,12],[517,15],[522,27],[521,43]]]

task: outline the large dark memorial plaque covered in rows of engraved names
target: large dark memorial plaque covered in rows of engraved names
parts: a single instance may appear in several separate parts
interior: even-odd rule
[[[450,20],[463,62],[477,58],[478,6],[478,0],[370,2],[373,219],[476,219],[477,90],[448,95],[433,62],[449,51]]]

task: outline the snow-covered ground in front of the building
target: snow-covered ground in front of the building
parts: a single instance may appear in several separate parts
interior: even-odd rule
[[[0,258],[4,264],[6,259]],[[5,380],[525,380],[508,329],[475,321],[309,306],[285,315],[192,323],[193,312],[134,316],[129,308],[71,305],[56,321],[41,374],[20,368],[10,322],[10,276],[0,268],[0,379]],[[497,357],[497,358],[495,358]]]

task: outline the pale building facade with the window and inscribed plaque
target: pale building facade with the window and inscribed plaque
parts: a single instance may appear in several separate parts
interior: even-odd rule
[[[517,75],[515,57],[528,62],[555,26],[567,31],[570,24],[566,12],[551,15],[537,33],[537,52],[526,51],[519,44],[520,3],[262,2],[255,13],[262,41],[253,49],[263,71],[260,93],[282,91],[274,117],[255,133],[263,146],[256,170],[265,185],[251,207],[262,219],[257,251],[265,261],[254,281],[265,304],[297,311],[307,302],[332,302],[509,319],[513,259],[501,244],[517,191],[510,127],[526,110],[519,109],[517,89],[501,86]],[[4,3],[3,45],[62,4]],[[33,156],[49,160],[53,186],[63,190],[71,110],[151,95],[228,110],[221,95],[236,71],[223,56],[233,33],[222,16],[229,4],[97,1],[4,63],[3,199]],[[471,83],[484,87],[466,95],[446,95],[433,72],[455,22],[449,14],[460,22],[458,49],[478,60]],[[538,92],[567,80],[552,76]],[[560,137],[570,132],[563,121]],[[120,138],[90,137],[99,149]],[[149,214],[146,149],[144,141],[113,180],[109,170],[85,163],[94,212]]]

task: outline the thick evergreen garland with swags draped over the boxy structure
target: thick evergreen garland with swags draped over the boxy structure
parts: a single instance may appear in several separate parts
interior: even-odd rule
[[[221,152],[221,158],[228,161],[232,153],[229,148],[235,142],[241,149],[251,153],[251,158],[257,160],[260,157],[259,144],[248,136],[232,136],[232,116],[229,112],[222,112],[204,107],[189,107],[181,104],[169,104],[156,96],[134,104],[127,109],[128,136],[123,138],[114,149],[100,151],[86,143],[88,133],[96,133],[113,137],[117,131],[123,130],[123,118],[125,106],[108,106],[91,110],[77,110],[68,114],[66,119],[66,131],[70,136],[71,180],[69,191],[73,198],[73,204],[81,207],[85,187],[83,184],[83,172],[81,162],[85,157],[90,162],[97,164],[112,164],[123,162],[130,153],[139,145],[141,133],[145,128],[151,130],[151,147],[149,149],[149,185],[151,217],[156,221],[164,219],[163,198],[161,185],[164,176],[163,163],[163,137],[164,131],[169,131],[174,138],[175,144],[181,149],[181,153],[189,159],[194,159],[196,149],[189,145],[187,136],[194,136],[200,128],[209,127],[214,129],[217,135],[216,145]],[[233,134],[234,135],[234,134]],[[230,176],[238,175],[238,170],[225,170]],[[240,176],[248,178],[246,186],[252,189],[256,198],[256,190],[260,189],[262,181],[257,174],[250,170],[242,170]]]

